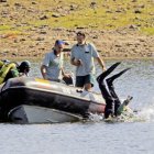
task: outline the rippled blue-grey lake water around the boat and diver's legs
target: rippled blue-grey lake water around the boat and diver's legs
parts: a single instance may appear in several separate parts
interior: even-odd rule
[[[116,61],[108,61],[110,66]],[[123,61],[114,73],[132,69],[116,81],[121,98],[133,96],[142,122],[78,122],[62,124],[0,124],[1,154],[154,154],[154,62]],[[74,68],[66,65],[67,70]],[[101,73],[97,67],[97,75]],[[31,76],[41,77],[33,63]],[[95,87],[95,90],[99,90]]]

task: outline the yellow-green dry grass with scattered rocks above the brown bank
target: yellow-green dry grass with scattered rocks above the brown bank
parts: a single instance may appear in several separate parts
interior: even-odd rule
[[[95,8],[90,6],[91,2],[96,2]],[[10,12],[9,18],[0,18],[3,23],[0,25],[0,33],[8,31],[22,33],[41,25],[95,30],[116,30],[135,25],[141,33],[154,34],[153,0],[136,0],[136,2],[133,0],[11,0],[8,4],[9,7],[0,4],[1,10]],[[55,13],[59,16],[54,18]],[[40,20],[43,15],[47,19]],[[15,26],[21,23],[26,24]]]

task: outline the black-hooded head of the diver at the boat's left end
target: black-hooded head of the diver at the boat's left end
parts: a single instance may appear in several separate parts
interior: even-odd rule
[[[31,63],[29,61],[23,61],[20,66],[18,67],[20,73],[28,74],[31,69]]]

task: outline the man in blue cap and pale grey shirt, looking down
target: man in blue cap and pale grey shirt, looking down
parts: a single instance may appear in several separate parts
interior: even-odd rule
[[[47,53],[41,66],[41,73],[44,79],[53,81],[62,81],[63,77],[69,78],[63,68],[63,50],[65,42],[62,40],[55,41],[52,52]],[[62,77],[63,76],[63,77]]]

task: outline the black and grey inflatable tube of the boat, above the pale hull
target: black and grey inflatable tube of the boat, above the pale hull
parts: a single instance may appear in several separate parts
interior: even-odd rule
[[[0,120],[10,121],[8,113],[15,107],[26,105],[57,109],[85,117],[87,112],[105,112],[100,95],[81,96],[75,87],[38,78],[19,77],[9,79],[0,88]]]

